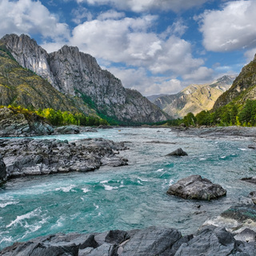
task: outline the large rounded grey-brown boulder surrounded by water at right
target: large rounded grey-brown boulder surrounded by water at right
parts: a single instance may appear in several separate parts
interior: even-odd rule
[[[210,182],[207,178],[191,175],[171,185],[167,194],[185,199],[211,200],[225,196],[226,190],[222,186]]]

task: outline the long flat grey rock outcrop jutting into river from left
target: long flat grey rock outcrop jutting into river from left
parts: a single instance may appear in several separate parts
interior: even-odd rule
[[[6,177],[56,174],[70,171],[86,172],[102,165],[124,166],[113,150],[124,150],[122,142],[85,139],[78,143],[58,139],[11,138],[1,139],[0,147],[6,164]]]

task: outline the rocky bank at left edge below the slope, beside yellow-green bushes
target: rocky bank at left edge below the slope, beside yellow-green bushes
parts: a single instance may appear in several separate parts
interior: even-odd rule
[[[0,137],[52,134],[54,128],[37,114],[26,116],[9,108],[0,108]]]

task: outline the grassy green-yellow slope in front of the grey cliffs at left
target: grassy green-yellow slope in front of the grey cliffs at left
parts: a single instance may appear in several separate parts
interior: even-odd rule
[[[45,79],[22,68],[0,44],[0,105],[18,105],[34,109],[53,108],[73,113],[96,115],[80,98],[71,101]]]

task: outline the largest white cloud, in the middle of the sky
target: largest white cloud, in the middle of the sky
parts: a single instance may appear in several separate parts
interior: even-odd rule
[[[110,18],[106,18],[109,14]],[[116,19],[118,13],[111,11],[100,17],[76,26],[70,44],[96,58],[142,66],[155,75],[182,76],[204,63],[202,58],[193,57],[190,42],[175,35],[178,27],[185,29],[181,22],[168,28],[163,37],[150,31],[157,16]]]

